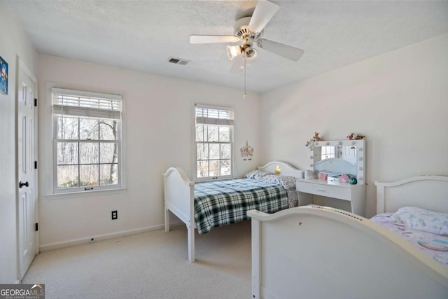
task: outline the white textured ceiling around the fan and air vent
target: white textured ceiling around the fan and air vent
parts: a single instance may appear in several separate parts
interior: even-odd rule
[[[264,38],[301,48],[291,62],[265,50],[247,69],[248,90],[291,82],[448,33],[448,1],[272,1]],[[233,35],[257,1],[8,0],[38,53],[244,88],[225,44],[190,34]],[[170,64],[169,57],[190,60]]]

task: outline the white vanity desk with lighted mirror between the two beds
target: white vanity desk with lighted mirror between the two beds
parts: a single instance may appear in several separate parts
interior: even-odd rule
[[[323,148],[325,146],[326,148]],[[333,157],[325,159],[325,150],[334,147]],[[323,154],[324,153],[324,154]],[[330,153],[330,157],[332,154]],[[328,181],[319,179],[298,179],[296,183],[299,195],[299,205],[313,202],[313,195],[337,198],[350,202],[351,212],[365,216],[365,141],[341,140],[318,141],[314,143],[310,167],[313,167],[315,176],[318,172],[334,172],[351,174],[358,183],[339,183],[338,179],[328,178]]]

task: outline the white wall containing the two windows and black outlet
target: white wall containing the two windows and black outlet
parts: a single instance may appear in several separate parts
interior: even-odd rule
[[[184,66],[176,66],[184,67]],[[188,67],[188,66],[185,66]],[[161,228],[163,223],[162,173],[168,167],[193,172],[194,104],[231,106],[235,109],[235,174],[258,166],[259,95],[241,90],[183,81],[57,57],[38,57],[38,95],[45,85],[118,92],[124,101],[124,135],[127,153],[127,190],[84,196],[45,196],[51,185],[50,130],[45,127],[49,106],[39,105],[39,169],[41,249],[68,242],[85,242],[117,232]],[[239,148],[255,148],[252,161],[242,161]],[[118,210],[118,220],[111,211]]]

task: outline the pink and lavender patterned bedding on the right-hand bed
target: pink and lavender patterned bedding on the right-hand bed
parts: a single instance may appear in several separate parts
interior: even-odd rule
[[[396,225],[391,217],[392,215],[393,213],[378,214],[370,220],[400,235],[437,262],[448,267],[448,236],[414,230],[404,225]]]

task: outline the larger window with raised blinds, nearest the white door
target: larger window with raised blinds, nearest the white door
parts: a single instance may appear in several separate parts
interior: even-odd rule
[[[52,88],[55,193],[121,186],[121,96]]]

